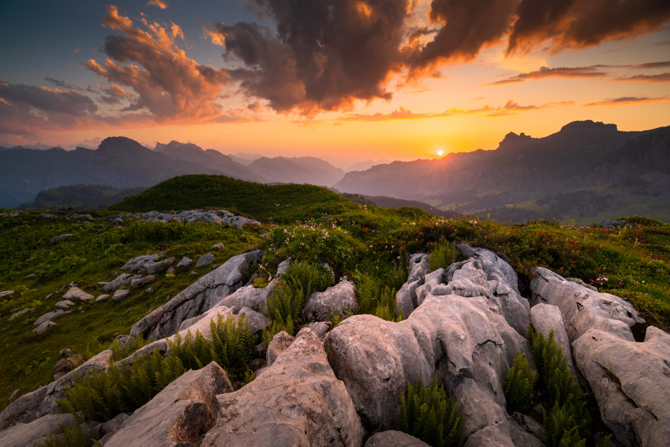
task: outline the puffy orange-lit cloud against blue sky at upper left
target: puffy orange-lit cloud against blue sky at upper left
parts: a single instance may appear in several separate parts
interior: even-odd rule
[[[137,92],[126,111],[148,110],[158,122],[203,122],[221,115],[217,99],[230,81],[226,72],[186,57],[174,43],[184,37],[176,24],[140,22],[147,31],[134,27],[116,6],[107,6],[105,27],[121,34],[105,39],[107,59],[102,64],[89,59],[84,66]]]

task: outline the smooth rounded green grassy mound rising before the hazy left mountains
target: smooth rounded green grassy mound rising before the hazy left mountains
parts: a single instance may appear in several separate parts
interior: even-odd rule
[[[128,197],[110,210],[147,212],[218,207],[262,222],[288,222],[323,213],[337,214],[353,206],[350,200],[310,184],[267,185],[225,175],[182,175]]]

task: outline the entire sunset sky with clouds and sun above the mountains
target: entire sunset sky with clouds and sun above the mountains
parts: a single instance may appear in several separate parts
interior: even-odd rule
[[[667,0],[0,1],[0,145],[320,156],[670,125]]]

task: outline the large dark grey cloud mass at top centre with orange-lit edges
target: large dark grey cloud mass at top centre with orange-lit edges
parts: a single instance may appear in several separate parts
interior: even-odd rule
[[[388,77],[403,68],[410,0],[255,0],[276,32],[258,24],[213,24],[231,71],[249,96],[279,111],[347,108],[389,99]]]

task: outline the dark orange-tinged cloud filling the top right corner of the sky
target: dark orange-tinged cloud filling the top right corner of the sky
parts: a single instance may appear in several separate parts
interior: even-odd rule
[[[521,0],[507,52],[550,41],[554,50],[634,38],[670,20],[667,0]]]

